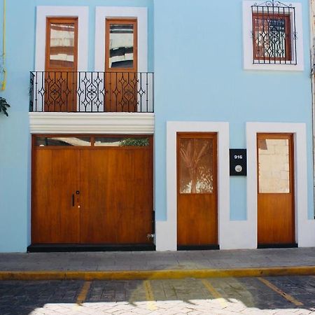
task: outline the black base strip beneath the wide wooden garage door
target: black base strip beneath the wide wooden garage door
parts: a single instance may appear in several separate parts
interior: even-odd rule
[[[28,253],[76,251],[155,251],[154,244],[31,244]]]

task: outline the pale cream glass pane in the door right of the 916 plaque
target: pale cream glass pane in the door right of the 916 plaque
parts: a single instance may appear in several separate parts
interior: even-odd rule
[[[258,139],[258,192],[290,193],[288,139]]]

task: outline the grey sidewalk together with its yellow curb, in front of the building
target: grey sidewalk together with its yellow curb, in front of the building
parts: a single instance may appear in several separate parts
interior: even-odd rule
[[[315,248],[0,253],[0,279],[154,279],[315,274]]]

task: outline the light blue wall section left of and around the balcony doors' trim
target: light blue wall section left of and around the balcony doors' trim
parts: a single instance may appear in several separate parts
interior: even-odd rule
[[[36,6],[90,7],[87,70],[93,70],[94,65],[95,6],[148,7],[148,70],[153,71],[153,0],[7,1],[8,83],[0,96],[6,97],[12,107],[9,118],[0,115],[0,252],[25,251],[30,243],[28,91],[29,71],[34,70]]]

